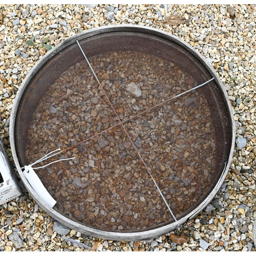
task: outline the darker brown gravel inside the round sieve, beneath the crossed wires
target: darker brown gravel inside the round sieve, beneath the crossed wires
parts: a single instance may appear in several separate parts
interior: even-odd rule
[[[167,60],[138,52],[89,58],[121,121],[199,84]],[[30,123],[27,162],[118,124],[87,63],[49,87]],[[177,219],[194,209],[216,178],[216,145],[201,89],[124,122]],[[121,125],[42,163],[36,170],[66,217],[103,230],[137,231],[174,222]],[[40,165],[40,164],[39,164]]]

